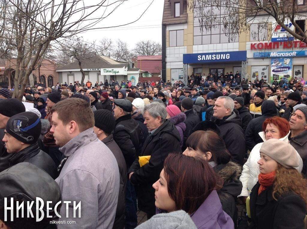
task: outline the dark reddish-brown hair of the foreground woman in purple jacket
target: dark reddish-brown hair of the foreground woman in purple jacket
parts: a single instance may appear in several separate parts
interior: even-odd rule
[[[170,153],[164,161],[167,191],[175,201],[176,211],[195,212],[215,189],[220,189],[216,176],[206,160]]]

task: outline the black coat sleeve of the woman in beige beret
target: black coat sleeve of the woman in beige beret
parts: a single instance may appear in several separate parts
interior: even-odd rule
[[[300,196],[290,195],[278,204],[274,228],[304,228],[306,205]]]

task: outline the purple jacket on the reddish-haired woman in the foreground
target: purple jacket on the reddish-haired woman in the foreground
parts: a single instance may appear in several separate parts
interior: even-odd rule
[[[223,211],[216,190],[213,190],[197,211],[190,216],[199,229],[235,228],[231,217]]]

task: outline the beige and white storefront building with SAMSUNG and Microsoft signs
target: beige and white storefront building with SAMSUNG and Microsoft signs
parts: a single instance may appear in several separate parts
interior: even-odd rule
[[[215,14],[223,14],[221,11],[216,10]],[[282,38],[284,31],[273,18],[269,18],[260,31],[262,18],[263,15],[255,17],[250,30],[228,37],[223,32],[223,25],[219,24],[212,26],[210,31],[201,31],[200,17],[187,7],[187,1],[165,0],[162,78],[171,82],[186,81],[185,77],[192,73],[201,76],[217,73],[220,76],[227,72],[235,75],[238,71],[248,80],[254,80],[256,76],[259,79],[263,76],[267,82],[273,78],[295,76],[307,79],[306,44]],[[304,31],[307,29],[305,18],[297,21]]]

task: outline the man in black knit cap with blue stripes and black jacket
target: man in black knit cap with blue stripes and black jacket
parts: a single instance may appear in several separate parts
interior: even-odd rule
[[[56,179],[58,171],[55,163],[38,147],[40,133],[41,120],[33,112],[21,112],[7,121],[3,142],[7,152],[13,154],[9,159],[9,165],[11,167],[21,162],[29,162]]]

